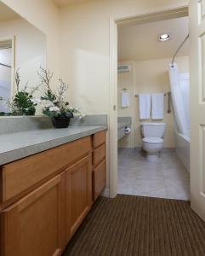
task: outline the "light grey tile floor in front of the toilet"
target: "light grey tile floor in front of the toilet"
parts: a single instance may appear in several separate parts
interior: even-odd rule
[[[189,172],[172,149],[164,149],[153,163],[139,148],[119,148],[118,193],[190,200]]]

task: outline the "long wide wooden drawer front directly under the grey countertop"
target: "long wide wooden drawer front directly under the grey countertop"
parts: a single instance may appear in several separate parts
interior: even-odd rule
[[[3,166],[2,201],[8,201],[26,189],[60,172],[65,166],[81,159],[92,150],[91,137],[84,137],[73,143],[66,143],[39,154]]]

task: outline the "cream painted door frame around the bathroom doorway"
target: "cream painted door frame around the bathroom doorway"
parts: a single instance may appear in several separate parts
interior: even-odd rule
[[[188,15],[188,4],[175,4],[167,8],[151,9],[142,14],[121,15],[110,18],[110,101],[109,101],[109,194],[117,195],[117,26],[141,24]]]

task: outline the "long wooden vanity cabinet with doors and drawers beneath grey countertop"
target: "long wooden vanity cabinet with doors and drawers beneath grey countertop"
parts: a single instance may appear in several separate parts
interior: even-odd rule
[[[81,129],[39,153],[19,148],[19,160],[13,150],[1,165],[1,256],[60,255],[105,188],[106,126]]]

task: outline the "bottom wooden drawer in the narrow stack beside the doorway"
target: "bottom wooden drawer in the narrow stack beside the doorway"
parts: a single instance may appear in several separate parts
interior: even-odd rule
[[[106,160],[93,171],[93,200],[95,201],[106,185]]]

